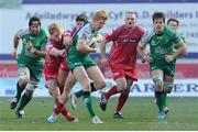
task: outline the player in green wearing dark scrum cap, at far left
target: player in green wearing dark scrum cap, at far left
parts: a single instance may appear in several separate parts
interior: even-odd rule
[[[18,55],[20,40],[22,41],[22,51]],[[10,102],[10,108],[14,109],[21,99],[15,111],[18,118],[23,117],[23,108],[32,99],[37,82],[42,77],[46,40],[46,32],[41,29],[41,21],[36,16],[30,19],[29,29],[21,30],[14,35],[14,51],[12,55],[18,61],[19,80],[16,84],[16,94]],[[21,98],[24,89],[25,91]]]

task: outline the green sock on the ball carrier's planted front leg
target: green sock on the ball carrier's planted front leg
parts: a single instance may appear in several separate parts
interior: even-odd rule
[[[89,91],[84,91],[84,102],[87,106],[90,117],[91,118],[95,117],[96,113],[94,112],[94,109],[92,109],[92,102],[91,102],[91,97],[90,97]]]

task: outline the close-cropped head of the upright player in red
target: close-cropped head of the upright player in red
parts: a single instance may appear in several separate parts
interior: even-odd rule
[[[136,25],[136,14],[134,12],[125,12],[125,26],[133,29]]]

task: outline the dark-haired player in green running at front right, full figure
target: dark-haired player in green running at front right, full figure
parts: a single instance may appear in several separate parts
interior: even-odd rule
[[[165,119],[169,109],[166,106],[166,95],[174,86],[175,65],[178,55],[186,54],[184,41],[170,28],[165,26],[163,12],[153,14],[154,29],[142,37],[139,51],[143,62],[150,62],[151,77],[155,85],[155,98],[158,107],[158,118]],[[150,53],[146,48],[150,44]],[[175,50],[175,45],[177,48]]]

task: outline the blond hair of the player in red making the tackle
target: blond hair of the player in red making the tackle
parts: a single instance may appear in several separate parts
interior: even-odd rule
[[[62,34],[64,32],[64,29],[61,23],[52,23],[48,25],[48,33],[52,35],[54,32],[57,32],[58,34]]]

